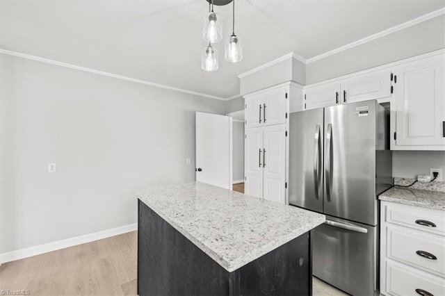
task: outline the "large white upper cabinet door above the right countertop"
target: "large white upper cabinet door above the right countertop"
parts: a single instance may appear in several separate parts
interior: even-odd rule
[[[444,56],[418,60],[394,69],[396,147],[436,145],[445,149]]]

